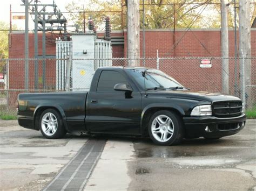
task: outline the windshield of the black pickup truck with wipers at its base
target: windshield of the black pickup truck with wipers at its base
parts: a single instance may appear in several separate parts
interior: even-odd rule
[[[131,69],[127,70],[131,76],[136,80],[139,86],[145,90],[147,89],[164,89],[164,88],[173,88],[173,87],[183,87],[179,82],[174,80],[169,75],[161,72],[157,69],[147,69],[145,75],[143,72],[146,69]],[[144,77],[145,76],[145,77]],[[145,79],[145,84],[144,84]]]

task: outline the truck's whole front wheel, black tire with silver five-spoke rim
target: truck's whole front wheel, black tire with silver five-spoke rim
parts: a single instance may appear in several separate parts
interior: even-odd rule
[[[151,116],[148,129],[150,138],[158,145],[178,144],[184,137],[182,119],[172,111],[157,111]]]

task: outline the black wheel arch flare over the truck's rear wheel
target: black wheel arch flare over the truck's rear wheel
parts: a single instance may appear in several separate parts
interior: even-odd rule
[[[41,114],[46,109],[55,109],[59,112],[60,116],[62,117],[63,125],[65,129],[68,131],[68,125],[66,124],[66,115],[62,107],[60,105],[48,105],[48,104],[42,104],[38,105],[33,113],[33,126],[35,130],[39,130],[40,127],[38,126],[38,121],[41,117]]]

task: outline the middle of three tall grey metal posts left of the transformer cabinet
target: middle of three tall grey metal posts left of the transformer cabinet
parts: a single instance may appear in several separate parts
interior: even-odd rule
[[[38,29],[38,6],[37,6],[37,2],[35,2],[35,53],[34,53],[34,57],[35,57],[35,89],[38,89],[38,33],[37,33],[37,29]]]

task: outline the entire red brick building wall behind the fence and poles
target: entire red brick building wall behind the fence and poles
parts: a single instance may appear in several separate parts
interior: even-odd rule
[[[99,37],[103,37],[104,33],[99,33]],[[124,45],[113,45],[113,58],[126,57],[127,33],[116,32],[112,36],[124,36]],[[55,38],[57,34],[52,36],[46,33],[46,54],[56,54]],[[221,45],[220,30],[193,30],[193,31],[176,31],[173,34],[170,30],[146,30],[145,31],[145,52],[146,57],[156,57],[157,49],[160,57],[220,57]],[[239,38],[239,35],[238,35]],[[140,32],[140,55],[142,50],[142,32]],[[180,40],[181,39],[181,40]],[[234,32],[229,31],[230,56],[234,56]],[[177,44],[174,48],[174,44]],[[239,45],[239,42],[238,42]],[[252,56],[256,56],[256,30],[251,31],[251,47]],[[29,57],[33,58],[34,54],[34,36],[29,34]],[[42,55],[42,34],[38,34],[38,54]],[[11,34],[11,44],[9,48],[10,58],[24,58],[24,33]],[[252,60],[252,84],[256,83],[255,66],[256,59]],[[175,79],[183,83],[187,87],[192,87],[193,90],[201,90],[212,88],[212,91],[221,90],[221,60],[213,59],[212,68],[200,68],[200,60],[173,61],[160,63],[160,69],[170,74]],[[34,62],[29,62],[29,87],[33,89],[34,79]],[[121,62],[120,62],[121,63]],[[117,64],[117,62],[116,62]],[[39,63],[39,70],[42,71],[42,63]],[[40,69],[41,67],[41,69]],[[156,67],[155,63],[149,67]],[[49,80],[48,88],[55,86],[55,64],[54,61],[46,63],[46,79]],[[239,68],[239,66],[238,66]],[[234,79],[234,60],[230,60],[230,84]],[[39,73],[42,76],[42,72]],[[192,80],[193,79],[193,80]],[[52,81],[52,82],[50,82]],[[39,79],[40,82],[40,79]],[[40,84],[39,84],[40,85]],[[41,84],[42,85],[42,84]],[[41,86],[40,85],[40,86]],[[24,61],[10,61],[10,88],[24,88]],[[231,91],[233,91],[233,86]]]

